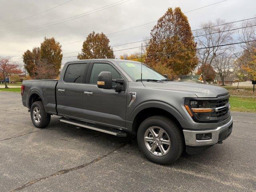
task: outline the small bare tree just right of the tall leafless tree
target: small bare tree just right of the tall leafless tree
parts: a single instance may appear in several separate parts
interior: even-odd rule
[[[222,80],[222,85],[224,85],[224,78],[230,75],[231,69],[234,64],[234,56],[230,53],[224,52],[212,60],[212,67],[216,73],[220,76]]]

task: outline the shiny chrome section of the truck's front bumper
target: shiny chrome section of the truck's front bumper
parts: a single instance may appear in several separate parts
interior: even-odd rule
[[[228,128],[233,123],[233,118],[231,117],[230,121],[222,126],[217,127],[213,130],[183,130],[185,143],[188,146],[204,146],[204,145],[214,145],[218,143],[219,134],[222,130]],[[206,134],[212,133],[212,138],[208,140],[196,140],[196,134]]]

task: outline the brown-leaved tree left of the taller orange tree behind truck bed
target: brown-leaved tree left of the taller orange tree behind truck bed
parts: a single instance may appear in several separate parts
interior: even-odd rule
[[[34,47],[32,49],[32,52],[30,50],[27,50],[22,55],[22,58],[23,58],[25,70],[27,70],[28,74],[31,77],[34,77],[33,69],[40,60],[40,48]]]

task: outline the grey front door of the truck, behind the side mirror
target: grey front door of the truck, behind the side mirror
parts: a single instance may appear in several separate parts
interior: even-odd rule
[[[108,71],[112,79],[124,78],[118,69],[109,62],[94,62],[90,64],[90,70],[84,84],[83,105],[84,119],[111,126],[125,128],[126,91],[115,92],[114,89],[100,89],[97,86],[98,74]],[[115,83],[113,83],[113,86]]]

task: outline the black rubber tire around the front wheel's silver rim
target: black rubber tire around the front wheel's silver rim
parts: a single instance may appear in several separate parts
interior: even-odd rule
[[[166,152],[166,154],[164,155],[162,155],[162,153],[160,152],[160,155],[162,156],[157,156],[156,154],[153,154],[152,152],[150,152],[150,150],[148,149],[144,141],[144,134],[146,133],[148,128],[154,127],[154,126],[162,128],[165,131],[164,134],[165,135],[167,134],[169,137],[170,148],[168,152]],[[162,164],[162,165],[170,164],[176,161],[184,150],[184,141],[183,141],[182,133],[179,127],[171,119],[166,118],[164,116],[152,116],[144,120],[138,128],[137,141],[138,141],[138,146],[140,147],[140,150],[150,161],[154,163]],[[148,146],[150,147],[151,144],[153,146],[156,143],[150,142],[148,143]],[[165,146],[169,146],[169,145],[165,145]],[[157,148],[155,153],[157,153],[157,150],[160,150],[158,146],[156,147]]]

